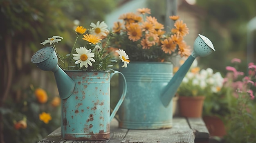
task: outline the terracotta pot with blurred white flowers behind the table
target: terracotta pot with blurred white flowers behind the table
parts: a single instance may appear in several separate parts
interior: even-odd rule
[[[204,99],[222,87],[223,78],[211,68],[191,67],[177,90],[180,115],[202,117]]]

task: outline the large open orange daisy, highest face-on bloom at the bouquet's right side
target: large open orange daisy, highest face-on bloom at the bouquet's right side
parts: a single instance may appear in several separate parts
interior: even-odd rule
[[[176,33],[177,35],[180,36],[185,36],[186,34],[189,34],[189,28],[187,28],[186,24],[183,23],[182,20],[178,20],[174,24],[175,29],[172,29],[172,33]]]

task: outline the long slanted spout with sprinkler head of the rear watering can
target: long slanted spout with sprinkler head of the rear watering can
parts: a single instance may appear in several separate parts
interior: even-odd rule
[[[192,65],[195,58],[198,56],[207,56],[211,54],[213,51],[215,51],[215,49],[211,41],[207,37],[199,34],[194,42],[193,52],[188,57],[188,59],[186,59],[186,61],[179,68],[179,70],[175,73],[171,81],[169,81],[169,83],[166,86],[166,89],[161,95],[161,101],[164,106],[168,106],[168,104],[171,102],[171,99],[175,96],[177,89],[179,88],[186,73],[189,71],[189,68]]]

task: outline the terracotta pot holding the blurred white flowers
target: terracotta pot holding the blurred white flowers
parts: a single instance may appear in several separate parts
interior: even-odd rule
[[[179,111],[180,116],[183,117],[202,117],[202,110],[204,104],[204,96],[196,97],[179,97]]]

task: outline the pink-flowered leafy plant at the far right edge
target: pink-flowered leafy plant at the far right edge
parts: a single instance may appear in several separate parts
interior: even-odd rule
[[[225,86],[231,87],[228,92],[233,97],[230,103],[230,114],[225,117],[227,134],[223,136],[225,143],[256,142],[256,106],[255,106],[255,73],[256,65],[249,63],[244,72],[239,71],[240,59],[232,59],[233,66],[227,66]]]

